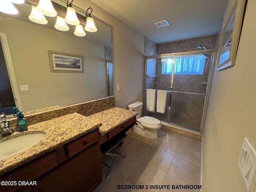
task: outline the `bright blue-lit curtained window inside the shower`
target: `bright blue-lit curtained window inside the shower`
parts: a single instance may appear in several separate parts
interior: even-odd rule
[[[172,74],[174,65],[174,74],[204,74],[204,63],[207,57],[203,54],[190,56],[177,56],[174,58],[162,59],[162,74]]]

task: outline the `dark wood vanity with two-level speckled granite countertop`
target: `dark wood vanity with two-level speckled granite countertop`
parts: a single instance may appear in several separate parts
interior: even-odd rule
[[[102,181],[100,144],[126,132],[135,122],[135,112],[114,107],[88,117],[68,114],[8,136],[46,134],[31,148],[0,160],[0,181],[9,185],[0,185],[0,191],[93,191]],[[0,138],[0,142],[7,139]],[[22,186],[19,181],[32,182]]]

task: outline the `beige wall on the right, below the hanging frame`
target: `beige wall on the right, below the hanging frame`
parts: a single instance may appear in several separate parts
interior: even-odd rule
[[[237,163],[244,137],[256,146],[255,18],[256,1],[248,0],[235,66],[214,71],[203,133],[203,192],[247,191]]]

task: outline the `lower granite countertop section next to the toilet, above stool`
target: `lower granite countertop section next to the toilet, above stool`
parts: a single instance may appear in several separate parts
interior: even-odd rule
[[[134,111],[129,111],[126,109],[113,107],[102,112],[88,116],[93,122],[102,123],[100,126],[100,134],[104,135],[114,128],[120,126],[124,122],[135,117],[138,113]]]

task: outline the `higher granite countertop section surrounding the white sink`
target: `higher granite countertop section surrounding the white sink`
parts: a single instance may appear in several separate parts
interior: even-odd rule
[[[46,134],[46,136],[34,146],[18,154],[0,160],[0,176],[88,132],[91,132],[92,130],[97,129],[101,125],[101,120],[88,118],[78,113],[72,113],[30,125],[28,126],[27,131],[16,132],[10,136],[0,138],[0,142],[3,142],[5,140],[9,140],[10,138],[15,138],[17,136],[26,134]]]

